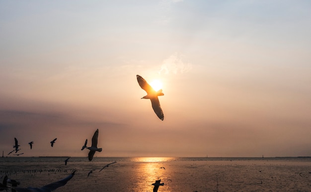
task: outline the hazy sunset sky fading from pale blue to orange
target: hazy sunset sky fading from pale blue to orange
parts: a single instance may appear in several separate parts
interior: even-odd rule
[[[0,151],[86,157],[98,128],[97,157],[311,156],[310,9],[0,1]],[[163,121],[137,74],[162,83]]]

